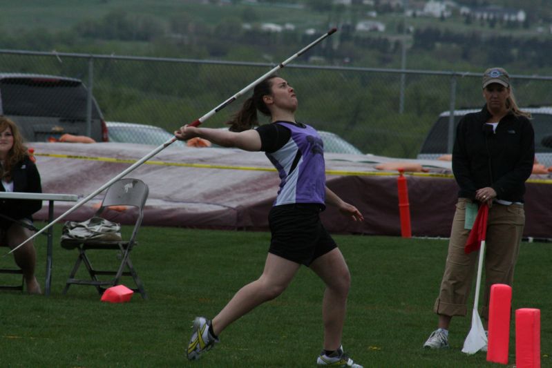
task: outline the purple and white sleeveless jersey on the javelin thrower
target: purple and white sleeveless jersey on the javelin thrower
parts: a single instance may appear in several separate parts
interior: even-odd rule
[[[324,144],[312,126],[275,122],[292,135],[278,151],[265,154],[278,170],[280,189],[274,206],[292,203],[319,203],[325,206],[326,176]]]

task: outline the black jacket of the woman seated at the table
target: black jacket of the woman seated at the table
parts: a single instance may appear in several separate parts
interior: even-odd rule
[[[22,159],[12,169],[13,191],[42,193],[40,175],[37,166],[28,157]],[[6,191],[0,184],[0,191]],[[0,199],[0,213],[15,220],[32,218],[31,215],[42,208],[41,200],[6,200]],[[6,227],[10,222],[0,217],[0,226]]]

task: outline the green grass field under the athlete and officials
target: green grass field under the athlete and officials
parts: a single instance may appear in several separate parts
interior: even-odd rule
[[[191,320],[214,316],[243,284],[260,275],[268,233],[144,226],[132,258],[149,300],[135,295],[129,303],[111,304],[100,302],[88,286],[72,286],[61,295],[77,253],[61,249],[59,230],[56,225],[50,297],[0,292],[2,367],[316,366],[323,284],[307,268],[283,295],[225,330],[213,351],[197,362],[184,356]],[[335,238],[352,273],[343,344],[354,360],[364,367],[504,367],[486,362],[484,353],[461,353],[471,313],[453,320],[450,349],[421,348],[437,323],[432,304],[446,240]],[[551,246],[522,245],[513,289],[514,309],[541,309],[542,367],[552,364]],[[37,249],[44,285],[45,237]],[[99,258],[105,257],[93,262]],[[0,265],[6,264],[12,260],[1,258]],[[515,365],[514,331],[512,321],[509,366]]]

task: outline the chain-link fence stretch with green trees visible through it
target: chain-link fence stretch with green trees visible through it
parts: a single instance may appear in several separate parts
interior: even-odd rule
[[[0,73],[82,79],[106,121],[169,132],[272,68],[274,64],[0,50]],[[278,74],[296,90],[299,121],[374,155],[414,158],[440,113],[484,104],[482,73],[289,64]],[[552,77],[511,75],[511,80],[520,107],[552,105]],[[224,126],[244,99],[204,126]],[[552,121],[550,127],[552,134]],[[447,136],[439,139],[452,142]]]

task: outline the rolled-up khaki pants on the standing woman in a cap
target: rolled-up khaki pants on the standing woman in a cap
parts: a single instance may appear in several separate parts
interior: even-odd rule
[[[433,311],[445,316],[466,316],[466,301],[474,278],[477,278],[479,252],[464,253],[469,230],[464,229],[466,198],[456,204],[453,228],[448,244],[445,272],[439,298]],[[484,258],[484,297],[481,316],[488,320],[489,293],[492,284],[512,285],[515,262],[520,253],[525,212],[521,204],[493,203],[488,211]],[[483,287],[483,285],[482,285]]]

